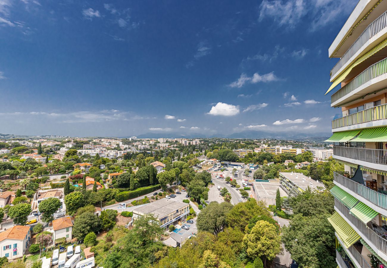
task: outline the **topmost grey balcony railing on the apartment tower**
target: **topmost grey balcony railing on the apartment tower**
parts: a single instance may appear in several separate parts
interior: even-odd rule
[[[352,58],[356,52],[368,41],[372,36],[379,33],[387,27],[387,12],[384,12],[380,17],[373,21],[368,27],[365,28],[363,33],[360,34],[358,39],[352,44],[352,46],[347,50],[346,53],[341,57],[341,59],[336,63],[336,65],[330,70],[331,76],[336,74],[341,67],[346,64],[350,58]]]

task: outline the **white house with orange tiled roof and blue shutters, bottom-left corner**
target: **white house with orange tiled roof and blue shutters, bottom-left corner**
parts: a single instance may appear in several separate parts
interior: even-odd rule
[[[15,225],[0,233],[0,258],[22,258],[31,241],[29,226]]]

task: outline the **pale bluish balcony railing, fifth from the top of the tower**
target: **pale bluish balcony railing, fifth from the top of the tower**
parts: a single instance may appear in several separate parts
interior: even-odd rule
[[[333,178],[338,184],[348,188],[355,194],[362,196],[378,207],[387,210],[387,195],[367,188],[364,185],[348,179],[337,172],[333,172]]]

